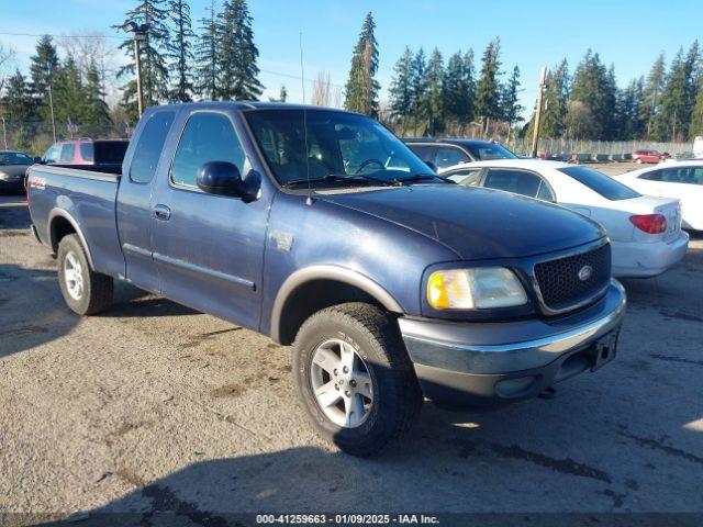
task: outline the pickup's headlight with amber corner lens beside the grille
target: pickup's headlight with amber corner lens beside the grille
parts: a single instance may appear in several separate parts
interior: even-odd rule
[[[477,267],[433,272],[427,302],[435,310],[490,310],[524,305],[527,295],[510,269]]]

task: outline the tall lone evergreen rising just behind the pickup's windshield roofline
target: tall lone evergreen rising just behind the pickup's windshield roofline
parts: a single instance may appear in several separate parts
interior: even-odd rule
[[[359,41],[354,46],[349,80],[346,83],[344,106],[354,112],[365,113],[378,119],[378,92],[380,85],[376,80],[378,71],[378,42],[373,30],[376,22],[371,12],[367,13],[361,25]]]

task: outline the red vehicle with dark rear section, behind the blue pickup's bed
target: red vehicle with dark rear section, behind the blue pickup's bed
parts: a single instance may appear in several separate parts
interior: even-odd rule
[[[52,145],[41,162],[44,165],[96,165],[112,164],[124,158],[129,141],[89,138],[59,141]],[[99,147],[99,152],[96,148]],[[98,156],[97,156],[98,154]]]

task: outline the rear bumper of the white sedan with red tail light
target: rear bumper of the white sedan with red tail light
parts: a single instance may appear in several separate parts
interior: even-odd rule
[[[668,271],[685,256],[689,235],[681,232],[669,242],[611,242],[613,276],[649,278]]]

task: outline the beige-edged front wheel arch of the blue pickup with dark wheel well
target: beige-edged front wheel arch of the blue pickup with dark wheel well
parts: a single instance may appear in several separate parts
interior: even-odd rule
[[[292,344],[310,315],[353,301],[403,313],[393,295],[367,276],[338,266],[311,266],[293,272],[279,288],[271,310],[271,338],[279,344]]]

